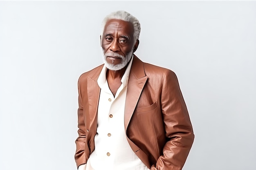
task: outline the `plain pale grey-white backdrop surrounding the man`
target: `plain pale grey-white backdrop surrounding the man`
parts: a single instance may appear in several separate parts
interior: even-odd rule
[[[136,55],[173,70],[195,132],[183,170],[256,169],[256,1],[0,2],[0,170],[75,170],[77,80],[106,14],[141,22]]]

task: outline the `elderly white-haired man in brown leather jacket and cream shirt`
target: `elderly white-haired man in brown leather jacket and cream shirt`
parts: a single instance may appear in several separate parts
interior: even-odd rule
[[[79,170],[181,170],[194,135],[175,73],[133,53],[140,24],[126,11],[103,20],[104,64],[79,77]]]

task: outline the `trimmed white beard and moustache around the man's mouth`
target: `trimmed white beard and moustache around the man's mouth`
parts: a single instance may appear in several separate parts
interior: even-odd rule
[[[123,55],[120,55],[118,53],[112,52],[112,53],[106,53],[104,54],[104,50],[102,49],[102,55],[103,55],[103,62],[105,64],[105,66],[112,70],[112,71],[117,71],[117,70],[121,70],[122,68],[124,68],[128,62],[130,61],[130,59],[132,58],[132,53],[133,53],[133,49],[132,51],[130,51],[125,57]],[[114,64],[110,64],[106,61],[107,56],[117,56],[121,58],[121,63],[114,65]]]

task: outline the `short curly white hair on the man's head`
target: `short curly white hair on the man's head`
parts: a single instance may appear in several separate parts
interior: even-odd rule
[[[107,21],[111,20],[111,19],[123,20],[123,21],[132,23],[133,29],[134,29],[134,33],[133,33],[134,41],[136,42],[136,40],[139,40],[139,33],[140,33],[139,20],[126,11],[112,12],[103,19],[102,24],[101,24],[101,37],[103,35],[103,31],[104,31]],[[135,42],[134,42],[134,44],[135,44]]]

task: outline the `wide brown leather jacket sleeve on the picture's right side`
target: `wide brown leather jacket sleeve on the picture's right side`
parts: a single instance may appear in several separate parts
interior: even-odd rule
[[[151,170],[181,170],[194,140],[193,129],[175,73],[164,76],[161,95],[166,144]]]

